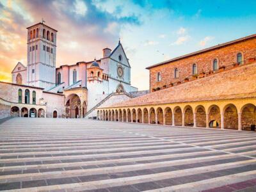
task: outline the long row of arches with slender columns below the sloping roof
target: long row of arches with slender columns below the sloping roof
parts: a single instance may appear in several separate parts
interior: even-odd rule
[[[227,104],[224,108],[213,104],[208,108],[203,105],[195,108],[187,105],[184,108],[167,106],[164,108],[101,109],[97,111],[97,118],[119,122],[243,130],[256,124],[256,107],[253,104],[244,104],[238,110],[235,104]]]

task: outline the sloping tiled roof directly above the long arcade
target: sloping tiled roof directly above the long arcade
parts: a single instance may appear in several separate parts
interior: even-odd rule
[[[159,90],[108,107],[256,98],[256,63]]]

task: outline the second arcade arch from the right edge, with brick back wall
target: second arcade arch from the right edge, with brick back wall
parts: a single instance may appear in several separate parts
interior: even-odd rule
[[[238,113],[234,104],[227,104],[223,109],[224,129],[238,129]]]

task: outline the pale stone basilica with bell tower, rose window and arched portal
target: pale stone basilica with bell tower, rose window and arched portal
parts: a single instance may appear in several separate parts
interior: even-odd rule
[[[0,99],[12,116],[83,118],[95,109],[136,97],[131,65],[121,42],[102,58],[56,68],[56,29],[43,22],[28,29],[27,65],[17,63],[12,83],[0,82]],[[142,92],[143,93],[143,92]]]

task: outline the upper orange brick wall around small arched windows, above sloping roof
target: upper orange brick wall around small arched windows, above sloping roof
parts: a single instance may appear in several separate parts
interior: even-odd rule
[[[153,89],[163,89],[164,86],[172,86],[179,81],[184,83],[184,79],[189,81],[195,79],[192,74],[192,65],[196,63],[198,74],[205,72],[205,76],[213,70],[213,60],[218,60],[218,67],[233,67],[237,63],[237,53],[243,54],[244,63],[249,63],[251,58],[256,58],[256,37],[237,42],[236,44],[226,45],[212,51],[202,52],[194,56],[189,56],[176,61],[171,61],[164,65],[150,68],[150,92]],[[179,77],[175,78],[174,70],[179,69]],[[161,81],[157,82],[157,73],[161,73]]]

